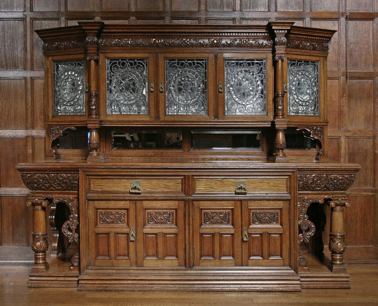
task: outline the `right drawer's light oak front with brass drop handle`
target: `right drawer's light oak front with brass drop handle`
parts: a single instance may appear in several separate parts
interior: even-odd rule
[[[288,193],[287,180],[287,177],[195,177],[194,194]]]

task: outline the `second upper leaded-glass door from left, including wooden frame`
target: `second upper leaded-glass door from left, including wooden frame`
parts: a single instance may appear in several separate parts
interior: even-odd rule
[[[105,120],[154,120],[155,61],[148,53],[101,55],[101,104]]]

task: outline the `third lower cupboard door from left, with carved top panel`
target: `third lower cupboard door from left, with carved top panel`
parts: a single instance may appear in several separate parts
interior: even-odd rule
[[[194,266],[241,265],[240,202],[194,202]]]

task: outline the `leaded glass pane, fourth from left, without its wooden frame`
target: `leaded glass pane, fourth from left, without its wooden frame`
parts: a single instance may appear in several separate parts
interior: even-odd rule
[[[266,60],[225,59],[225,115],[266,115]]]

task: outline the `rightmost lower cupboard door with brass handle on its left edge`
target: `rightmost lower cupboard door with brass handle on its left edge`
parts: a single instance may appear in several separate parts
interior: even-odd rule
[[[288,201],[243,201],[243,266],[289,266]]]

